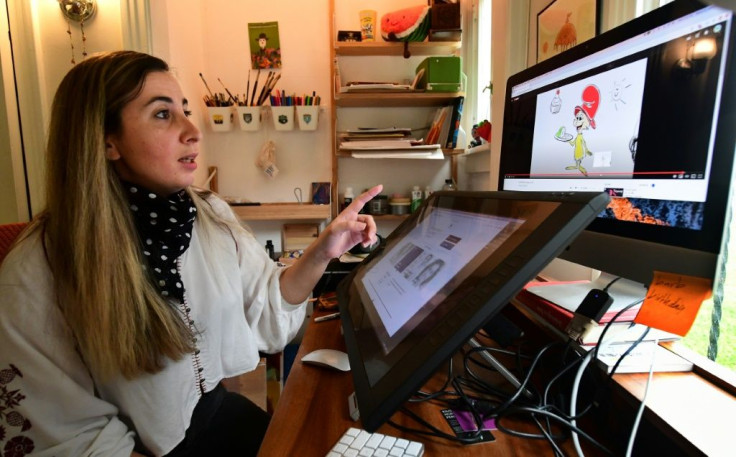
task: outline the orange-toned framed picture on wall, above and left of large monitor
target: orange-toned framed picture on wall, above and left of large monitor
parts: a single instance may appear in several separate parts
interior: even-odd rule
[[[598,0],[553,0],[537,14],[537,62],[598,33]]]

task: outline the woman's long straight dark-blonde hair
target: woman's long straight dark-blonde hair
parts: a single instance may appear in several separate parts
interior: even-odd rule
[[[127,197],[105,157],[105,136],[119,131],[121,110],[157,71],[168,65],[147,54],[90,56],[66,75],[52,106],[47,207],[33,228],[43,231],[61,312],[88,367],[102,379],[156,373],[165,358],[194,349],[179,311],[142,269]],[[203,195],[187,191],[198,224],[223,224]]]

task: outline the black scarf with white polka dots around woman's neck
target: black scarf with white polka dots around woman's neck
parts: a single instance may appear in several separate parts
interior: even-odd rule
[[[189,247],[197,208],[186,191],[159,197],[141,186],[123,183],[156,285],[164,297],[184,301],[184,284],[176,259]]]

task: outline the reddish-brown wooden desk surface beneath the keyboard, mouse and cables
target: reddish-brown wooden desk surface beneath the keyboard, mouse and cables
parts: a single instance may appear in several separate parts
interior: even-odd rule
[[[324,457],[348,427],[361,428],[360,422],[354,422],[348,415],[347,399],[353,392],[351,373],[303,365],[300,362],[305,354],[322,348],[345,350],[345,342],[340,334],[340,320],[320,323],[312,321],[307,326],[259,456]],[[439,387],[442,376],[438,375],[435,378],[428,383],[431,384],[428,389],[435,384]],[[422,403],[412,405],[412,409],[436,427],[451,433],[440,414],[439,406]],[[407,427],[417,427],[416,423],[401,413],[392,416],[392,420]],[[517,427],[511,420],[508,420],[508,423],[518,429],[527,427],[527,431],[536,432],[530,424],[520,423]],[[551,448],[545,441],[516,438],[499,431],[493,431],[496,438],[494,442],[471,446],[439,438],[407,435],[389,425],[383,425],[378,432],[421,441],[424,443],[427,457],[552,455]],[[561,447],[568,455],[574,455],[570,440]],[[583,448],[586,455],[595,455],[589,452],[587,446]]]

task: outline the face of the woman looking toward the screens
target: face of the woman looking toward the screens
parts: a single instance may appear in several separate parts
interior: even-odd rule
[[[106,155],[121,179],[168,196],[194,182],[201,133],[188,102],[168,72],[149,73],[123,107],[120,131],[105,138]]]

